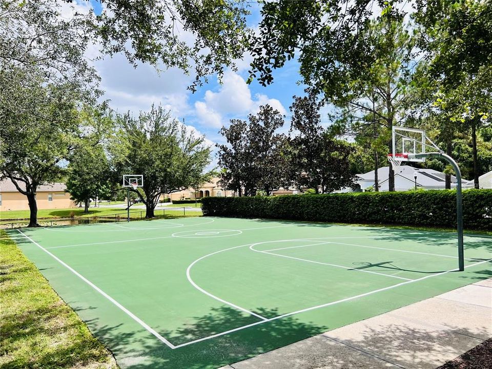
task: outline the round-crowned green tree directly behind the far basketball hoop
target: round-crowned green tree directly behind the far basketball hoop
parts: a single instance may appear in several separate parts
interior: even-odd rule
[[[117,116],[117,132],[109,146],[116,173],[144,176],[142,191],[130,189],[146,206],[146,218],[162,194],[184,190],[210,179],[206,173],[211,149],[161,106],[138,117]]]

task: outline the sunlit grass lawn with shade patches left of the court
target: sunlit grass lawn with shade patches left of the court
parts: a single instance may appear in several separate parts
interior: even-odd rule
[[[0,231],[0,244],[0,367],[116,369],[111,353],[5,231]]]

